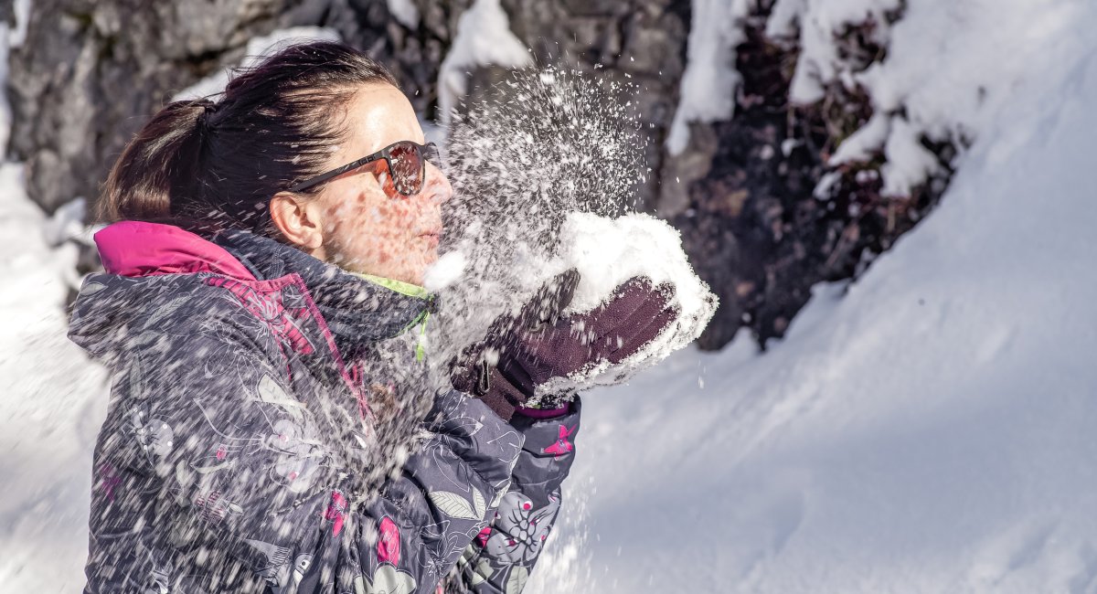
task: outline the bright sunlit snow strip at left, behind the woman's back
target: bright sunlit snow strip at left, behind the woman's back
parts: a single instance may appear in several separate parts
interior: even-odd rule
[[[0,164],[0,593],[79,592],[106,377],[65,338],[76,247]]]

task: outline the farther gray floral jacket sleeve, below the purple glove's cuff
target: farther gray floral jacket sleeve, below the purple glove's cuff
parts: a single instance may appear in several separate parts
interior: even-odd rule
[[[495,518],[446,579],[449,593],[518,594],[536,563],[561,506],[561,483],[575,459],[581,403],[561,416],[516,414],[513,427],[524,445]]]

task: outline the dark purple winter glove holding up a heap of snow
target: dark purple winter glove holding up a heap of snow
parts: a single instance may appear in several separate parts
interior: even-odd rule
[[[518,318],[500,318],[487,341],[465,351],[453,367],[453,386],[477,396],[510,420],[538,386],[588,364],[618,364],[652,342],[674,321],[669,284],[652,286],[637,276],[593,310],[561,318],[572,301],[578,273],[568,271],[538,292]]]

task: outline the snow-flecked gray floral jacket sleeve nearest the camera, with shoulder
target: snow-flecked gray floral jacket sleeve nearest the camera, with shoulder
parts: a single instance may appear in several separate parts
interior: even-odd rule
[[[358,469],[333,465],[284,370],[208,335],[146,342],[97,445],[89,594],[432,593],[521,450],[482,402],[442,393],[423,447],[355,504]]]

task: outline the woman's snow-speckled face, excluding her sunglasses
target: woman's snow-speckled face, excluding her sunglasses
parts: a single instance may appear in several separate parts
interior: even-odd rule
[[[325,170],[361,159],[398,140],[425,144],[422,128],[404,93],[389,84],[362,87],[347,104],[347,140]],[[422,284],[438,260],[441,205],[453,187],[427,163],[418,194],[396,192],[384,160],[328,182],[316,199],[323,250],[316,255],[346,270]]]

